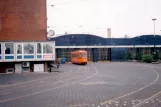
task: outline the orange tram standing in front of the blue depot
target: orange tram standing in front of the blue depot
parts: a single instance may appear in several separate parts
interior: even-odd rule
[[[88,62],[87,51],[77,50],[77,51],[71,52],[71,63],[86,65],[87,62]]]

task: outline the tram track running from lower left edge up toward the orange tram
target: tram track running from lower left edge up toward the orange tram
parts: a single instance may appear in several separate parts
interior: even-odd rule
[[[77,69],[79,69],[79,67],[77,68]],[[89,71],[89,68],[87,69],[88,71]],[[79,71],[80,71],[80,69],[79,69]],[[88,72],[87,71],[87,72]],[[75,73],[72,73],[71,75],[70,75],[70,78],[68,77],[68,78],[62,78],[63,80],[60,80],[60,81],[55,81],[55,82],[53,82],[52,83],[52,85],[51,84],[46,84],[46,85],[39,85],[39,86],[36,86],[36,88],[40,88],[40,87],[49,87],[49,85],[51,86],[50,88],[44,88],[44,89],[40,89],[39,91],[36,91],[36,92],[33,92],[33,93],[28,93],[28,94],[25,94],[25,95],[20,95],[20,96],[12,96],[12,94],[16,94],[16,93],[19,93],[19,92],[25,92],[25,91],[28,91],[28,90],[32,90],[33,88],[35,88],[35,87],[32,87],[32,88],[29,88],[29,89],[22,89],[22,90],[19,90],[19,91],[17,91],[17,92],[11,92],[11,93],[6,93],[6,94],[1,94],[0,95],[0,103],[2,103],[2,102],[6,102],[6,101],[10,101],[10,100],[13,100],[13,99],[18,99],[18,98],[22,98],[22,97],[25,97],[25,96],[30,96],[30,95],[34,95],[35,93],[36,94],[38,94],[38,93],[41,93],[41,92],[46,92],[46,91],[50,91],[50,90],[54,90],[54,89],[57,89],[57,88],[61,88],[61,87],[64,87],[64,86],[68,86],[68,85],[72,85],[72,84],[75,84],[75,83],[77,83],[77,82],[79,82],[79,81],[81,81],[81,80],[85,80],[85,78],[89,78],[89,76],[88,77],[86,77],[87,75],[86,75],[86,73],[87,72],[85,72],[85,73],[82,73],[82,72],[75,72]],[[81,79],[78,81],[78,77],[80,77],[80,75],[78,76],[78,73],[79,74],[83,74],[82,75],[82,77],[81,77]],[[94,74],[92,74],[92,75],[94,75]],[[83,78],[83,79],[82,79]],[[73,80],[77,80],[77,81],[74,81],[74,82],[71,82],[71,84],[66,84],[65,83],[65,81],[73,81]],[[60,85],[60,83],[62,83],[61,85]],[[70,83],[70,82],[67,82],[67,83]],[[59,84],[58,86],[55,86],[56,84]],[[54,87],[53,87],[54,86]],[[4,96],[10,96],[10,98],[8,99],[8,98],[3,98]]]

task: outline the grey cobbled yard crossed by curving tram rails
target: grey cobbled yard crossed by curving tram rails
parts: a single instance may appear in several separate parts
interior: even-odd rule
[[[160,64],[128,62],[0,75],[0,107],[161,107],[160,75]]]

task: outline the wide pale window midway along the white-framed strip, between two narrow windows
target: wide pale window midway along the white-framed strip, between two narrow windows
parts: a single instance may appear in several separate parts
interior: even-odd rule
[[[33,43],[24,43],[24,54],[34,54]]]

